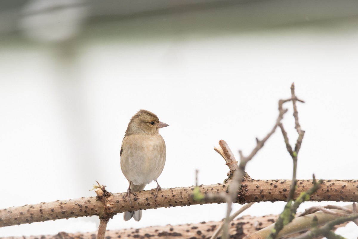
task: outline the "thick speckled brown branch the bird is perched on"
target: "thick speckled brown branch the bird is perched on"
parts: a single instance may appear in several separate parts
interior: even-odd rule
[[[286,201],[290,193],[291,180],[247,180],[242,182],[235,203],[245,204],[262,201]],[[228,184],[200,185],[199,190],[205,196],[214,193],[227,193]],[[327,180],[309,201],[358,201],[357,180]],[[301,192],[312,187],[312,180],[297,180],[296,199]],[[49,221],[57,219],[98,216],[100,219],[112,217],[117,213],[129,210],[156,209],[158,207],[190,206],[192,204],[222,203],[222,197],[205,197],[204,201],[194,201],[194,186],[166,188],[159,192],[158,198],[149,190],[137,193],[132,201],[124,201],[125,193],[114,193],[103,204],[97,197],[82,197],[54,202],[42,202],[35,205],[10,207],[0,210],[0,227]],[[108,193],[108,192],[107,192]]]

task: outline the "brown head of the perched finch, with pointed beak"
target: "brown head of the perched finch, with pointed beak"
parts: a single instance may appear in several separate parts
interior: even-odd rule
[[[159,129],[169,126],[160,122],[158,116],[147,110],[139,110],[129,121],[126,135],[129,134],[158,134]]]

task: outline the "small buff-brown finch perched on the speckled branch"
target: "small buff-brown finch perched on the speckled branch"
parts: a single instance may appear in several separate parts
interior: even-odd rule
[[[158,116],[147,110],[139,110],[129,121],[121,147],[121,169],[129,182],[126,193],[130,204],[130,193],[144,189],[145,185],[157,180],[165,164],[165,142],[159,134],[159,129],[169,126],[160,122]],[[156,194],[160,190],[157,183]],[[124,220],[131,218],[139,221],[142,211],[124,212]]]

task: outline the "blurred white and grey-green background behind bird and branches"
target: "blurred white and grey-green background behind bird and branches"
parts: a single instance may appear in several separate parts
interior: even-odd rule
[[[292,82],[306,101],[297,178],[357,179],[357,47],[357,1],[0,1],[0,208],[94,196],[96,180],[126,191],[120,145],[139,109],[170,125],[160,130],[163,188],[193,185],[195,169],[199,184],[222,182],[228,168],[213,147],[224,139],[237,157],[250,153]],[[291,168],[277,130],[247,171],[289,179]],[[245,214],[278,214],[283,205],[261,202]],[[116,215],[108,229],[221,220],[225,209],[146,210],[140,222]],[[0,228],[0,236],[95,231],[97,223],[47,221]]]

